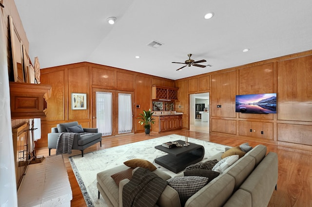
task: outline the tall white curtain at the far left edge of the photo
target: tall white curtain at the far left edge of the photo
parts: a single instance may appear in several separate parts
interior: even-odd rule
[[[3,30],[7,28],[1,11],[0,9],[0,207],[17,207],[7,44]]]

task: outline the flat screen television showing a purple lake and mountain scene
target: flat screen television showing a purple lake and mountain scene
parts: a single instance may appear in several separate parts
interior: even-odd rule
[[[276,93],[236,95],[235,112],[251,114],[275,114]]]

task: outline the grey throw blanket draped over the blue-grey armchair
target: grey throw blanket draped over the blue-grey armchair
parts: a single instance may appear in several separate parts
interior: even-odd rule
[[[72,153],[72,147],[74,142],[74,137],[77,133],[68,133],[63,132],[59,135],[58,142],[57,142],[57,152],[56,154],[71,154]]]

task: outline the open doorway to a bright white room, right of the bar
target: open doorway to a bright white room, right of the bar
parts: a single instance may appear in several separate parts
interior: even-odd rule
[[[190,94],[190,131],[209,134],[209,93]]]

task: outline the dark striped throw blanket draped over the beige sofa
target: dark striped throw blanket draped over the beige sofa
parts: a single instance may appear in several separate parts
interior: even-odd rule
[[[146,168],[138,168],[122,189],[123,207],[154,207],[168,183]]]

